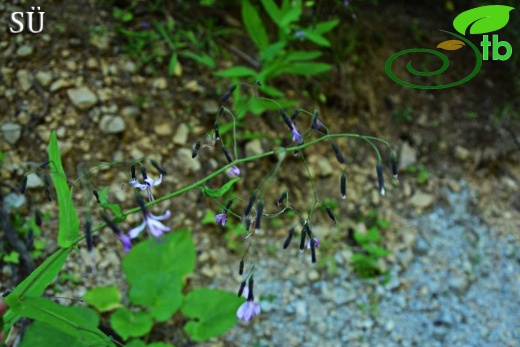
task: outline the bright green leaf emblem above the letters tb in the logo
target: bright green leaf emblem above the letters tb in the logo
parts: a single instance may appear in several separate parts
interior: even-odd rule
[[[504,5],[488,5],[473,8],[459,14],[453,20],[453,27],[462,35],[471,26],[470,34],[486,34],[502,29],[509,22],[509,12],[514,7]]]

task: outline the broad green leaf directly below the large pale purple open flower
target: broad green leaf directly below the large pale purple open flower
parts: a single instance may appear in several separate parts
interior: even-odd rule
[[[144,273],[161,275],[173,272],[184,277],[195,268],[195,245],[187,230],[175,230],[160,240],[144,240],[123,258],[123,271],[130,285]]]

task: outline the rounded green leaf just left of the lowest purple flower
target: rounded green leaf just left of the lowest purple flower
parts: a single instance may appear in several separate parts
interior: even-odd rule
[[[182,313],[194,320],[184,331],[195,341],[222,335],[236,323],[236,311],[244,302],[235,293],[200,288],[191,291],[184,299]]]

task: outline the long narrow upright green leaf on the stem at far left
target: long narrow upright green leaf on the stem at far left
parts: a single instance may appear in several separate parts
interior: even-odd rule
[[[67,183],[67,176],[61,164],[60,149],[56,132],[51,133],[49,143],[49,160],[51,162],[51,177],[56,195],[58,197],[59,208],[59,230],[58,244],[60,247],[70,247],[79,235],[78,213],[74,208],[72,194]]]

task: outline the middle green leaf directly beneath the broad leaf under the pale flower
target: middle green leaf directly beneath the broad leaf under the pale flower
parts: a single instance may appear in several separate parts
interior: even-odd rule
[[[182,279],[174,272],[143,273],[132,283],[129,296],[132,303],[146,306],[155,320],[164,322],[181,307]]]

